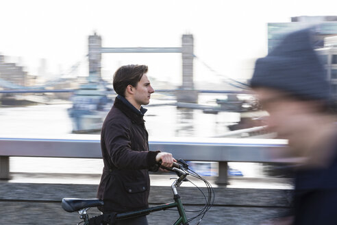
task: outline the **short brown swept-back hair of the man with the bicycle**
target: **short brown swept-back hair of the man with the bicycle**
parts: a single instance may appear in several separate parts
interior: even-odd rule
[[[125,97],[125,88],[127,85],[137,86],[137,83],[142,79],[142,75],[147,73],[147,66],[145,65],[126,65],[119,67],[114,73],[114,80],[112,85],[114,91],[118,95]]]

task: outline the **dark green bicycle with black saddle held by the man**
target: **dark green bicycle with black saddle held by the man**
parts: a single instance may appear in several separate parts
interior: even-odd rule
[[[86,211],[88,211],[90,207],[103,206],[104,204],[103,200],[99,200],[97,198],[94,198],[94,199],[63,198],[62,208],[69,213],[78,211],[79,218],[82,219],[83,221],[79,222],[77,225],[82,224],[82,223],[83,225],[93,224],[95,220],[96,222],[101,221],[105,223],[108,222],[108,224],[110,224],[115,220],[125,220],[125,219],[129,219],[132,217],[148,215],[149,213],[153,213],[155,211],[162,211],[162,210],[172,209],[172,208],[177,208],[177,211],[179,213],[179,218],[174,222],[173,225],[188,225],[190,221],[195,220],[197,217],[201,217],[199,222],[197,223],[199,224],[201,220],[203,220],[205,213],[207,213],[207,211],[210,209],[210,207],[212,206],[214,202],[214,190],[212,186],[210,185],[210,183],[204,178],[202,178],[195,171],[192,171],[192,169],[188,168],[188,164],[182,159],[179,159],[177,163],[173,163],[173,167],[164,167],[162,165],[160,165],[160,167],[162,167],[163,169],[167,169],[169,171],[173,171],[178,176],[177,178],[175,178],[175,180],[173,181],[171,185],[171,188],[173,191],[174,202],[167,203],[167,204],[160,204],[158,206],[152,206],[152,207],[149,207],[148,209],[142,209],[138,211],[131,211],[127,213],[117,213],[117,214],[111,214],[111,215],[103,214],[103,215],[99,215],[99,216],[91,217],[91,218],[89,217],[88,213],[86,213]],[[197,185],[195,185],[192,181],[186,178],[188,175],[205,182],[205,185],[208,191],[207,196],[205,195],[205,193],[203,193],[203,191],[199,187],[197,187]],[[203,206],[201,210],[186,211],[184,209],[182,201],[180,200],[180,196],[177,192],[177,187],[182,185],[182,182],[191,182],[192,185],[195,185],[195,187],[197,187],[199,191],[203,193],[203,197],[205,198],[205,205]],[[198,214],[188,219],[186,217],[185,212],[195,212]]]

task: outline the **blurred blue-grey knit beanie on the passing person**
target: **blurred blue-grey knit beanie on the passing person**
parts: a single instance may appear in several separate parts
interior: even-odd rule
[[[329,104],[329,83],[314,51],[313,34],[311,28],[292,32],[266,57],[256,60],[251,87],[275,88]]]

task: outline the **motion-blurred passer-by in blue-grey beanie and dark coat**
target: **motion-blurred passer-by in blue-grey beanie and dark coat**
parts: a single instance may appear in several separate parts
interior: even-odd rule
[[[255,63],[251,87],[267,125],[288,139],[288,156],[301,158],[293,216],[266,224],[337,224],[336,114],[314,40],[314,27],[292,32]]]

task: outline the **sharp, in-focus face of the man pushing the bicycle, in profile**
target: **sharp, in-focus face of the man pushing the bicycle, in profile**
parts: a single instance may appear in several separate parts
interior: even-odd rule
[[[149,104],[152,93],[154,93],[154,89],[145,73],[135,87],[134,100],[136,104],[138,104],[138,106]]]

